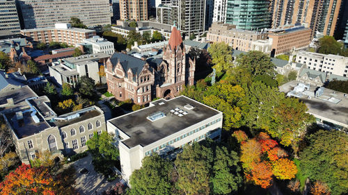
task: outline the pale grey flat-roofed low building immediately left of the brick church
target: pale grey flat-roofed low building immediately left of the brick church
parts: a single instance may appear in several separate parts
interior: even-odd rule
[[[49,67],[49,75],[57,85],[69,83],[76,86],[81,76],[93,78],[95,83],[106,83],[104,77],[99,74],[100,66],[105,66],[110,58],[106,53],[95,53],[79,57],[65,58],[59,62],[53,62]]]

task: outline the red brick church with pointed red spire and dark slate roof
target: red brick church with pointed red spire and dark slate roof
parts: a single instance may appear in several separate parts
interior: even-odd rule
[[[185,51],[180,31],[173,27],[163,59],[141,60],[113,53],[105,69],[108,91],[119,101],[132,99],[137,104],[173,97],[184,85],[193,85],[195,63]]]

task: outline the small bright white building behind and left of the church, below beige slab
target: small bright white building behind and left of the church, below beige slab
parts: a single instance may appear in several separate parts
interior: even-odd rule
[[[106,53],[111,55],[113,52],[115,52],[113,42],[109,42],[108,40],[97,35],[90,39],[84,40],[84,45],[88,44],[92,45],[93,53]]]

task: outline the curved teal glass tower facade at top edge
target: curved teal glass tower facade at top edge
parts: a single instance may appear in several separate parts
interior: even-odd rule
[[[239,29],[261,30],[271,27],[271,12],[267,0],[228,0],[226,23]]]

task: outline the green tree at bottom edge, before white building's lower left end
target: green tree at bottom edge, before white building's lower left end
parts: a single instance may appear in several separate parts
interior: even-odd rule
[[[142,167],[135,170],[129,183],[130,195],[171,194],[173,165],[155,153],[143,158]]]

